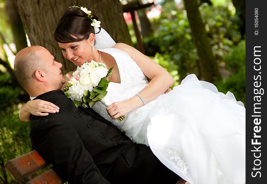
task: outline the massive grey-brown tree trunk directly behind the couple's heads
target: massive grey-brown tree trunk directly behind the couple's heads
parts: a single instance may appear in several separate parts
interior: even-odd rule
[[[103,27],[116,42],[132,44],[128,27],[124,21],[119,0],[14,0],[24,28],[32,45],[47,48],[55,59],[63,64],[67,73],[76,67],[62,55],[53,35],[64,10],[70,6],[83,6],[93,9]]]

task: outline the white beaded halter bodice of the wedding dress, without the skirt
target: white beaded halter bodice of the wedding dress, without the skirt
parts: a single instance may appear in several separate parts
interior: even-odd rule
[[[128,113],[127,119],[120,122],[113,120],[106,111],[106,105],[113,102],[120,102],[132,98],[139,93],[147,84],[147,78],[135,61],[126,53],[116,48],[99,49],[113,56],[116,60],[120,73],[120,83],[110,82],[107,88],[107,95],[103,100],[93,105],[93,110],[102,117],[112,122],[122,131],[126,132],[134,142],[147,144],[146,131],[148,121],[146,121],[147,113],[153,107],[155,102],[151,101],[138,109]],[[104,101],[104,103],[102,102]]]

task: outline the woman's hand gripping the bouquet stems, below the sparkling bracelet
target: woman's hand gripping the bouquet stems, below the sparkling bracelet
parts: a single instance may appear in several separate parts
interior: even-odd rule
[[[131,112],[132,110],[133,110],[132,105],[128,100],[121,102],[114,102],[109,106],[107,106],[107,112],[109,113],[109,116],[112,119],[116,119],[120,116],[123,116]]]

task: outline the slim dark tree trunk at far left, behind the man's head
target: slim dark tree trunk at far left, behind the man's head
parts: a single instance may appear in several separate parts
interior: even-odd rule
[[[12,33],[14,36],[14,42],[16,44],[17,52],[21,49],[28,47],[26,33],[23,28],[23,24],[14,0],[6,1],[6,12],[11,25]]]

